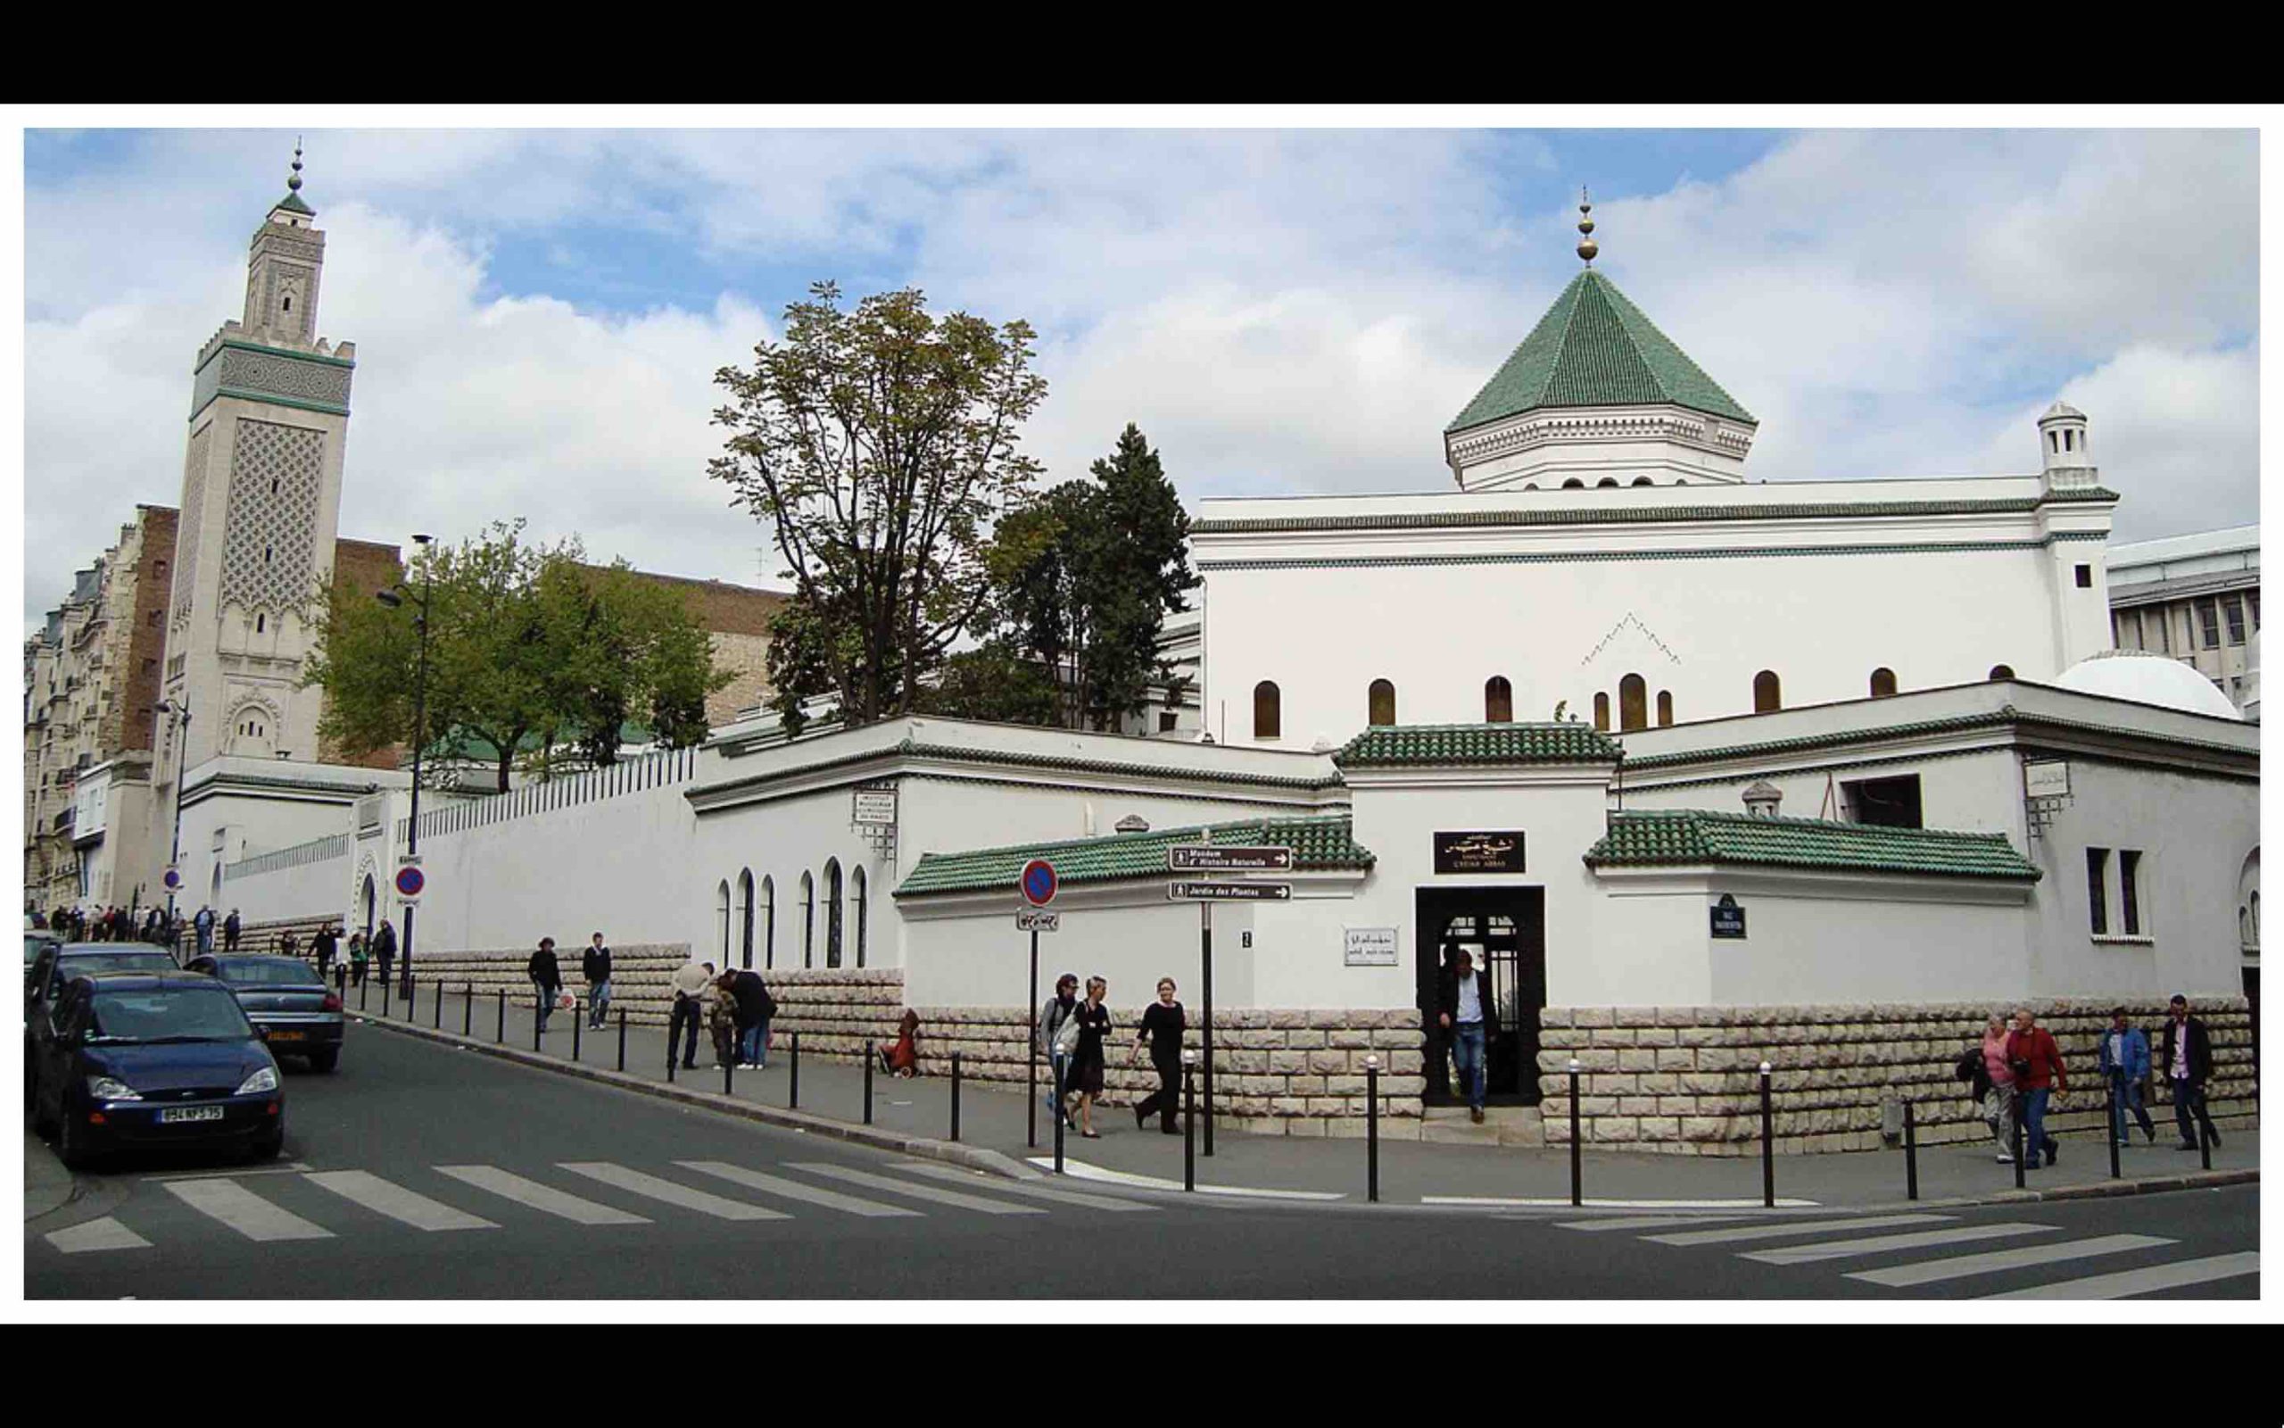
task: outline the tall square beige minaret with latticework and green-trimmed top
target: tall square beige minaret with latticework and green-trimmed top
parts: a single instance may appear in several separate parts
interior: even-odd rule
[[[160,676],[192,722],[180,740],[164,717],[158,729],[153,804],[169,813],[178,743],[190,770],[217,754],[317,759],[322,692],[299,681],[308,601],[333,578],[356,350],[317,336],[315,217],[295,144],[286,196],[247,247],[244,315],[194,366]]]

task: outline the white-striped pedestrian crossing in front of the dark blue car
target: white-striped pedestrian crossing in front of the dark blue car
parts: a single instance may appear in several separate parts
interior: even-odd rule
[[[612,1161],[560,1161],[541,1179],[498,1165],[429,1165],[427,1190],[370,1170],[192,1174],[155,1179],[116,1213],[55,1229],[64,1254],[148,1250],[180,1238],[242,1238],[256,1245],[329,1241],[370,1227],[370,1211],[423,1234],[496,1232],[516,1209],[582,1227],[665,1220],[767,1222],[802,1216],[916,1220],[927,1216],[1135,1213],[1158,1206],[1115,1195],[991,1179],[927,1161],[856,1170],[797,1161],[754,1170],[729,1161],[674,1161],[637,1170]],[[413,1179],[404,1174],[402,1179]],[[423,1177],[427,1184],[427,1177]],[[311,1197],[308,1186],[324,1195]],[[959,1188],[955,1188],[959,1186]],[[322,1206],[340,1206],[327,1213]],[[354,1206],[354,1209],[352,1209]],[[516,1209],[509,1209],[516,1206]],[[190,1211],[187,1216],[180,1211]]]

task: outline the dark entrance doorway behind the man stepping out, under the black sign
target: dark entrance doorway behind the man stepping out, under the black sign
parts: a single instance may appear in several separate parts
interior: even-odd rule
[[[1450,1067],[1450,1035],[1437,1024],[1443,973],[1459,950],[1491,973],[1485,1037],[1485,1099],[1539,1104],[1539,1010],[1546,1005],[1546,889],[1418,889],[1418,1008],[1425,1033],[1425,1104],[1464,1106]]]

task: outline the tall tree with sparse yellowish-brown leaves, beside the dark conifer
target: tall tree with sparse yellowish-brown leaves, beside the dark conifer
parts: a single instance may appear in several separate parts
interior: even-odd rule
[[[909,713],[991,592],[984,548],[1039,464],[1016,450],[1046,398],[1028,322],[936,320],[914,288],[786,308],[786,340],[722,368],[731,430],[708,473],[767,523],[795,601],[772,626],[774,708],[813,695],[850,724]]]

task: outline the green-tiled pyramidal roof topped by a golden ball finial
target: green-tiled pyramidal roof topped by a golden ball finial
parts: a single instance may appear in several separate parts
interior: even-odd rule
[[[1539,407],[1656,402],[1759,425],[1617,283],[1587,270],[1571,279],[1521,347],[1443,430],[1464,432]]]

